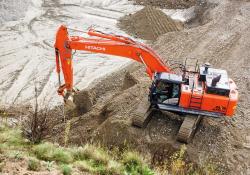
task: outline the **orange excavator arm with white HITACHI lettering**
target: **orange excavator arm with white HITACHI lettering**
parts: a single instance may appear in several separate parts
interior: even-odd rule
[[[61,26],[56,34],[55,52],[56,68],[60,87],[58,93],[64,96],[64,90],[73,90],[72,50],[83,50],[129,58],[143,63],[150,78],[155,72],[170,72],[160,57],[146,45],[130,38],[105,34],[90,29],[87,34],[92,38],[69,36],[65,26]],[[63,71],[65,84],[61,85],[60,71]]]

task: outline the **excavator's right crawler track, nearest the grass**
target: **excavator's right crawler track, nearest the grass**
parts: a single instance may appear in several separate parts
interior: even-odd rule
[[[201,115],[186,115],[177,134],[177,140],[180,142],[189,143],[195,134],[201,118]]]

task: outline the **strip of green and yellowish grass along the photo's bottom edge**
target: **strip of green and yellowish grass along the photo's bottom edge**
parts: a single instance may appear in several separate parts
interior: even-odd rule
[[[0,153],[6,158],[20,160],[29,157],[27,169],[51,171],[57,168],[62,174],[70,175],[74,170],[89,172],[98,175],[153,175],[155,171],[148,165],[142,156],[134,151],[125,150],[117,153],[96,145],[86,144],[83,147],[61,147],[44,142],[32,144],[22,137],[18,128],[0,128]],[[159,169],[159,174],[218,174],[217,167],[206,164],[194,168],[186,163],[186,147],[182,146],[168,160],[165,169]],[[46,165],[40,162],[45,161]],[[53,166],[52,166],[53,164]],[[4,162],[0,162],[0,170]],[[197,167],[197,166],[195,166]]]

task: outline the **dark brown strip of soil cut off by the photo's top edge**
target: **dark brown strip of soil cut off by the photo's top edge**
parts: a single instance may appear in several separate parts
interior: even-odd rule
[[[151,5],[167,9],[183,9],[194,6],[196,0],[134,0],[135,4]]]

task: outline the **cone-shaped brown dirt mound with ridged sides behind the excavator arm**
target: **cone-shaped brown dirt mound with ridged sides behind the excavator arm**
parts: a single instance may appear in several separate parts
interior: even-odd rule
[[[161,10],[152,6],[120,19],[119,27],[129,34],[145,40],[155,40],[162,34],[180,31],[183,24],[172,20]]]

